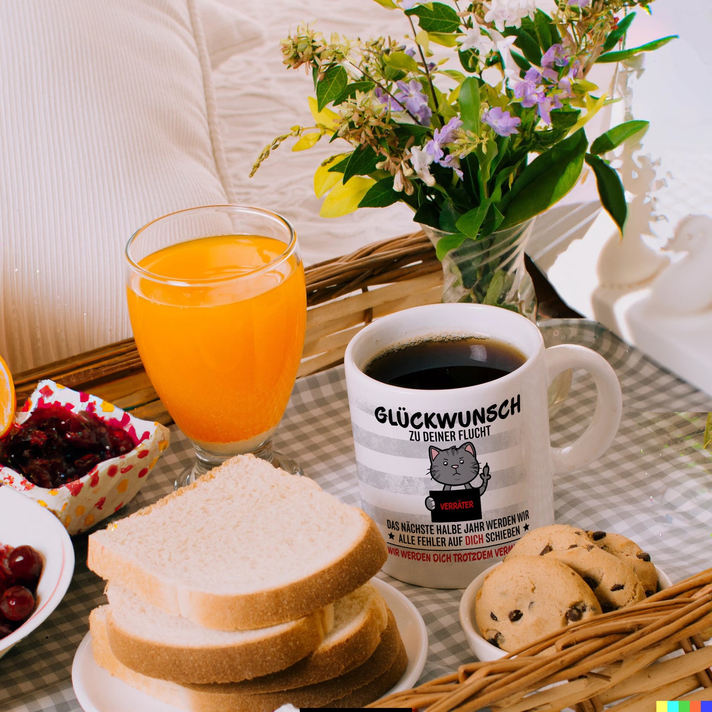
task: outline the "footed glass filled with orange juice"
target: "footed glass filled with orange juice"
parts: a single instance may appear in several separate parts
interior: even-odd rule
[[[304,345],[304,268],[292,226],[233,205],[178,211],[126,246],[136,346],[159,398],[197,459],[176,486],[230,456],[287,471],[272,437]]]

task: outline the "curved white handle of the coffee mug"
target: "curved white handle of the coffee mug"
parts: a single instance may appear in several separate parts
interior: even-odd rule
[[[570,445],[551,448],[554,474],[562,474],[597,460],[608,449],[618,431],[623,397],[609,362],[585,346],[550,346],[544,352],[544,360],[547,385],[568,368],[587,370],[596,384],[596,409],[585,432]]]

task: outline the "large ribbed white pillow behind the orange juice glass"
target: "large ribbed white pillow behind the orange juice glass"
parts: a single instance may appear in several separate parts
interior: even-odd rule
[[[194,0],[0,4],[0,353],[13,372],[129,337],[132,233],[234,201],[210,69]]]

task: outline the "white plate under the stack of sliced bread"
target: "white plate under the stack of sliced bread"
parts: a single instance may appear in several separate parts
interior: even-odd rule
[[[377,578],[379,590],[398,624],[408,653],[408,666],[389,693],[412,688],[428,656],[428,632],[417,608],[400,591]],[[91,634],[79,644],[72,664],[74,693],[85,712],[175,712],[176,707],[150,697],[110,675],[98,666],[91,651]]]

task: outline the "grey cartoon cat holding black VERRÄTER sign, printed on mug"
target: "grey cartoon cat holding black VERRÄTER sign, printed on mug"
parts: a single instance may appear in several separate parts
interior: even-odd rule
[[[481,519],[480,498],[487,489],[491,474],[488,464],[480,469],[475,446],[466,442],[441,450],[431,445],[428,454],[430,476],[443,486],[442,490],[431,490],[425,500],[425,506],[430,510],[430,520],[441,523]],[[472,481],[478,477],[481,484],[472,486]]]

